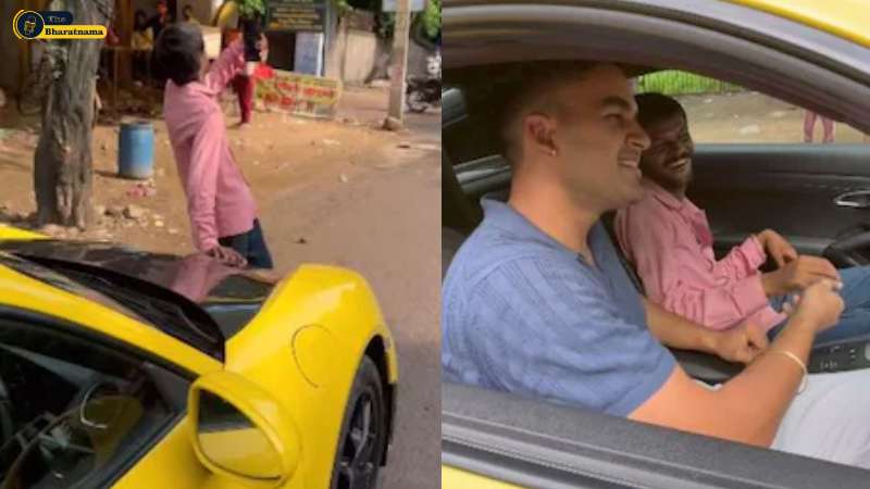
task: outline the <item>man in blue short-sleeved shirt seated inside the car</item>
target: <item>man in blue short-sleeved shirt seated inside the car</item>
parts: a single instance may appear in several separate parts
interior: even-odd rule
[[[843,309],[838,284],[807,287],[770,348],[753,327],[699,336],[639,297],[599,223],[643,196],[649,139],[623,72],[537,62],[512,79],[500,100],[510,199],[484,201],[447,273],[444,379],[870,466],[870,371],[813,375],[798,392],[815,335]],[[659,340],[751,364],[709,389]]]

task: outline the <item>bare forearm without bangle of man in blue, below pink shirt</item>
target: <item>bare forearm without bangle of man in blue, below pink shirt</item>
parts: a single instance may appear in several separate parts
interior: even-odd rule
[[[716,340],[721,333],[707,329],[646,298],[644,298],[644,309],[650,333],[662,344],[717,354]]]

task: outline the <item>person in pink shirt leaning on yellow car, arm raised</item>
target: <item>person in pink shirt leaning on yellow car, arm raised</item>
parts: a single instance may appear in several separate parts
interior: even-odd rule
[[[187,196],[194,243],[233,265],[271,268],[272,258],[257,218],[257,204],[226,141],[216,97],[245,66],[240,41],[209,68],[199,26],[167,26],[154,55],[170,78],[163,115]]]

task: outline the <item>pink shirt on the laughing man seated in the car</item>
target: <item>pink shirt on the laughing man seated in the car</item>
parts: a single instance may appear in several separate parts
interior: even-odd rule
[[[785,319],[761,287],[766,254],[755,236],[716,261],[705,212],[651,181],[644,187],[643,200],[617,213],[616,230],[649,300],[712,329]]]

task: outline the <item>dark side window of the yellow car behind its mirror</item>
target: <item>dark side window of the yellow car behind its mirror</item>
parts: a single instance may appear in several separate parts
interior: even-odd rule
[[[0,319],[0,484],[102,487],[184,412],[186,388],[116,348]]]

